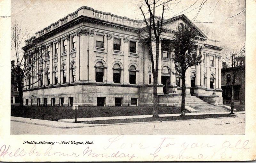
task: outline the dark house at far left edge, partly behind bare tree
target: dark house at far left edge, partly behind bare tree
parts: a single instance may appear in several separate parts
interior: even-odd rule
[[[11,61],[11,64],[14,65],[15,61]],[[15,77],[16,72],[13,70],[11,66],[11,104],[20,104],[20,99],[19,99],[19,91],[18,87],[15,85],[16,82],[16,77]]]

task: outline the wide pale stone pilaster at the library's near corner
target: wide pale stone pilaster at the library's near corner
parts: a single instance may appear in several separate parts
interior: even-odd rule
[[[88,81],[88,46],[89,46],[88,30],[80,30],[80,81]],[[90,40],[91,41],[91,40]],[[94,43],[92,36],[92,43]],[[93,47],[92,47],[93,48]],[[93,49],[90,49],[93,52]]]

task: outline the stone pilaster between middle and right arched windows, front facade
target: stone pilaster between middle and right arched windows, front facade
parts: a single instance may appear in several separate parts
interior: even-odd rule
[[[129,84],[129,39],[124,38],[124,84]]]

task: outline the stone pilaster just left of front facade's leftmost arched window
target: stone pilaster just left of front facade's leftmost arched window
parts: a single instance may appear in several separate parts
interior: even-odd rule
[[[105,46],[105,43],[104,43]],[[89,32],[89,82],[95,82],[95,69],[94,69],[94,31]],[[104,74],[105,76],[106,74]],[[104,82],[104,81],[103,81]]]

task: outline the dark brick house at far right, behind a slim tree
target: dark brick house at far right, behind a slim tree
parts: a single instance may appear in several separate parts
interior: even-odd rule
[[[234,100],[235,104],[245,104],[245,57],[236,58],[236,67],[238,66],[236,83],[234,85]],[[223,104],[231,103],[232,96],[232,67],[227,67],[226,62],[222,63],[221,69],[221,89]]]

